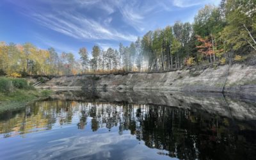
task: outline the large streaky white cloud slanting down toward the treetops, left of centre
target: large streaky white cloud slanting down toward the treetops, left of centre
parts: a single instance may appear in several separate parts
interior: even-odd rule
[[[60,12],[55,15],[34,13],[30,17],[46,28],[77,39],[134,41],[137,37],[106,28],[99,22],[78,13]]]

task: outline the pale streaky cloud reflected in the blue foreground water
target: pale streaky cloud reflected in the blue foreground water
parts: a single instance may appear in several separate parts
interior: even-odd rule
[[[129,135],[122,135],[116,138],[114,133],[105,133],[105,134],[93,134],[90,136],[83,137],[69,137],[63,138],[60,140],[50,141],[53,145],[42,148],[36,153],[36,159],[48,159],[49,156],[54,157],[63,157],[67,159],[72,159],[81,156],[92,156],[95,154],[100,158],[110,157],[111,148],[104,147],[106,145],[115,145],[120,141],[126,140],[129,138]],[[63,155],[63,153],[65,153]]]

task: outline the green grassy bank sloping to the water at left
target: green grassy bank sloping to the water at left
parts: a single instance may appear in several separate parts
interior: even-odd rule
[[[22,107],[33,100],[49,97],[51,91],[36,90],[26,79],[0,77],[0,111]]]

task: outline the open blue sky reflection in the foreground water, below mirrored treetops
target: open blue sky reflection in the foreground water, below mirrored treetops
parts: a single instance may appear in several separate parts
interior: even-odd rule
[[[157,154],[166,151],[148,148],[129,131],[119,135],[118,127],[92,132],[90,125],[77,130],[72,124],[24,137],[1,139],[1,159],[170,159]]]

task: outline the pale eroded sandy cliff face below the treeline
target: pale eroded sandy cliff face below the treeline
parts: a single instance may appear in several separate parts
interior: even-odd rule
[[[134,73],[126,75],[63,76],[51,79],[40,88],[56,90],[168,90],[193,92],[221,92],[228,65],[205,70],[177,70],[165,73]],[[232,65],[229,69],[225,93],[256,95],[256,66]]]

